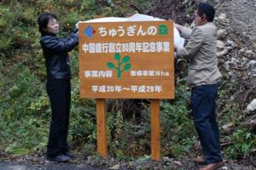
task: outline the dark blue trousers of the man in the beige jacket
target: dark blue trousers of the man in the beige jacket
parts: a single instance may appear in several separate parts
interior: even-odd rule
[[[215,113],[217,94],[218,84],[198,86],[191,93],[195,129],[207,164],[222,161]]]

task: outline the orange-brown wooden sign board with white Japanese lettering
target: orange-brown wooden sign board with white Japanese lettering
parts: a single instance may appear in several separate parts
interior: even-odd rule
[[[80,23],[79,80],[81,98],[174,99],[173,22]]]

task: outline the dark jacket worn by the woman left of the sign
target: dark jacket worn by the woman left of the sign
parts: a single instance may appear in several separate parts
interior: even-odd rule
[[[47,79],[70,79],[69,56],[79,43],[78,29],[67,38],[55,37],[53,34],[42,35],[40,39],[44,52]]]

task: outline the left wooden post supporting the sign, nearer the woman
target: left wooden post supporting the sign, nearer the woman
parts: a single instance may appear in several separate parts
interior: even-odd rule
[[[108,156],[106,100],[96,99],[97,150],[100,156]]]

